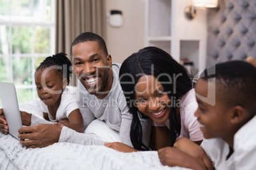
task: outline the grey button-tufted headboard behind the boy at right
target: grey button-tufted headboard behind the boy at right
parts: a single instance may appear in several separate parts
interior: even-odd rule
[[[207,63],[256,59],[256,0],[219,0],[208,9]]]

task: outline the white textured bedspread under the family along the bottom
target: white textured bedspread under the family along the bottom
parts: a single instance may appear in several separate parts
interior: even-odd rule
[[[25,148],[10,134],[0,133],[0,169],[185,169],[160,163],[157,152],[122,153],[104,146],[55,143]]]

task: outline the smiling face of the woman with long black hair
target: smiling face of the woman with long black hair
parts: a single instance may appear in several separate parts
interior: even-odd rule
[[[153,121],[162,123],[169,118],[171,100],[153,75],[143,75],[139,78],[134,95],[136,107]]]

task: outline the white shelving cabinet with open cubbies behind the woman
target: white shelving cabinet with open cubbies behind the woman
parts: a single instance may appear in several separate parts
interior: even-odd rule
[[[180,62],[188,60],[197,70],[206,66],[206,11],[194,20],[185,18],[192,0],[145,0],[145,46],[164,49]]]

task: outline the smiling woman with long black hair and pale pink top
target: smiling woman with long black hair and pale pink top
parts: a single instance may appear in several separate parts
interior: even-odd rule
[[[194,116],[197,102],[192,81],[187,70],[168,53],[155,47],[143,48],[122,63],[119,76],[133,115],[130,137],[136,150],[173,146],[183,136],[201,143],[203,134]],[[141,128],[145,119],[152,122],[151,129]],[[143,141],[148,132],[150,140]],[[105,145],[123,152],[134,151],[122,143]]]

